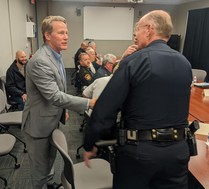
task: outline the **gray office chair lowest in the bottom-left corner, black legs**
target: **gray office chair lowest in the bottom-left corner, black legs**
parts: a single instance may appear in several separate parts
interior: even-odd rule
[[[17,161],[17,157],[11,153],[15,141],[15,137],[11,134],[0,134],[0,156],[10,155],[15,160],[15,169],[18,169],[20,164]],[[2,176],[0,176],[0,179],[4,182],[4,189],[9,189],[7,179]]]

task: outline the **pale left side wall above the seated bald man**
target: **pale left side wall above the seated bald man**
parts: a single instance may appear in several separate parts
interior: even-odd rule
[[[36,40],[28,40],[26,37],[26,15],[35,19],[35,7],[29,0],[1,0],[0,76],[6,74],[17,50],[24,50],[29,56],[32,48],[36,49]]]

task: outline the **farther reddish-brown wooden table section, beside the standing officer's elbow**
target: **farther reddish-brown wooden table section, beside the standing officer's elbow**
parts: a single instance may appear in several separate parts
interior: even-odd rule
[[[198,87],[191,88],[189,121],[198,120],[209,123],[209,97],[203,95],[203,89]]]

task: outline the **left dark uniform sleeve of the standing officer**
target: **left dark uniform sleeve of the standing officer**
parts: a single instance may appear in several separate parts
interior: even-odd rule
[[[121,63],[96,102],[84,140],[84,149],[91,151],[103,130],[115,126],[117,114],[129,92],[129,71]]]

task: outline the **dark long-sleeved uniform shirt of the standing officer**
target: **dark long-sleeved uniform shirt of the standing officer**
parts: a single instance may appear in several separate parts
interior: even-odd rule
[[[114,126],[120,108],[126,128],[185,127],[191,82],[190,63],[163,40],[128,56],[97,100],[85,150],[92,149],[104,129]]]

